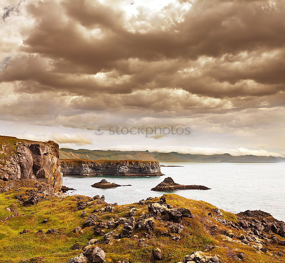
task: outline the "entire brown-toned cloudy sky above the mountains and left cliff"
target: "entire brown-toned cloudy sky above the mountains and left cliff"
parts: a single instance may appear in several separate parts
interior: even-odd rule
[[[284,0],[2,0],[0,11],[2,135],[285,156]],[[155,125],[191,134],[108,132]]]

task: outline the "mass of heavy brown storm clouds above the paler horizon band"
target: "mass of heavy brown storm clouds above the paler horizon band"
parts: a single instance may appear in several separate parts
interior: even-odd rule
[[[284,106],[284,1],[179,1],[136,14],[111,2],[26,0],[1,22],[21,35],[17,45],[0,40],[11,56],[0,71],[2,118],[92,129],[97,112],[116,112],[223,125],[220,115]],[[243,116],[235,125],[253,124]]]

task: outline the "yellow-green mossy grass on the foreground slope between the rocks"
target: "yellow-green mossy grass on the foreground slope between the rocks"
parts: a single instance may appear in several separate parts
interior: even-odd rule
[[[73,244],[78,243],[80,247],[83,247],[91,238],[103,239],[103,237],[93,235],[93,227],[85,228],[84,234],[73,233],[73,229],[85,221],[85,219],[80,218],[81,211],[75,211],[78,200],[75,200],[74,196],[63,200],[51,198],[49,201],[40,202],[32,207],[23,207],[14,196],[25,193],[26,190],[23,188],[19,192],[0,194],[0,220],[12,214],[5,210],[5,207],[14,207],[20,214],[23,214],[7,219],[5,223],[0,222],[0,263],[18,263],[24,258],[35,256],[43,257],[46,263],[64,263],[82,252],[82,250],[71,250],[70,247]],[[220,230],[226,229],[213,218],[206,216],[211,209],[215,208],[211,204],[186,199],[175,194],[166,195],[166,200],[168,204],[172,204],[174,207],[186,207],[196,215],[194,219],[183,219],[182,224],[185,228],[180,234],[181,241],[177,242],[169,237],[162,237],[161,233],[166,229],[160,221],[156,221],[153,235],[150,239],[146,239],[145,246],[138,246],[139,239],[144,238],[144,234],[137,230],[134,231],[133,235],[138,235],[138,238],[125,238],[109,244],[102,244],[101,247],[107,255],[105,258],[107,263],[115,263],[123,259],[130,259],[136,263],[150,262],[152,249],[156,247],[161,248],[163,253],[163,260],[160,262],[178,262],[187,254],[191,254],[192,251],[203,250],[206,244],[220,246],[220,248],[215,248],[211,254],[219,254],[222,262],[236,262],[230,258],[231,253],[237,253],[233,248],[245,252],[246,259],[244,262],[284,262],[284,256],[278,259],[270,254],[257,254],[255,249],[248,246],[223,241],[223,237],[210,230],[211,226],[215,224],[219,226]],[[94,208],[99,209],[101,207],[105,207],[105,205],[98,205],[97,200],[95,200],[90,202],[90,206],[85,211],[89,215]],[[126,217],[132,207],[140,209],[137,211],[136,219],[141,212],[147,211],[147,204],[140,206],[136,203],[117,206],[113,213],[99,213],[98,217],[104,221],[111,217],[114,219]],[[222,212],[224,218],[232,221],[236,219],[234,214]],[[42,223],[44,217],[49,218],[46,224]],[[56,235],[35,235],[39,229],[46,232],[49,228],[59,229],[60,233]],[[29,229],[30,233],[19,235],[23,229]],[[275,247],[272,247],[270,249],[280,251],[280,248],[276,250]]]

